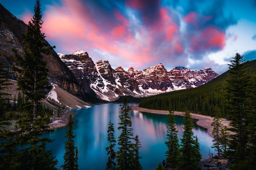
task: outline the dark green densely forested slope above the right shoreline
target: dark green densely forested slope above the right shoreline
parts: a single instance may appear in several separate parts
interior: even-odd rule
[[[256,60],[248,61],[248,73],[256,77]],[[194,113],[213,115],[214,105],[218,105],[222,116],[226,117],[225,83],[228,71],[212,81],[194,89],[172,91],[151,97],[142,98],[139,107],[155,110],[168,110],[171,104],[175,111],[184,111],[186,108]],[[255,88],[255,87],[252,87]]]

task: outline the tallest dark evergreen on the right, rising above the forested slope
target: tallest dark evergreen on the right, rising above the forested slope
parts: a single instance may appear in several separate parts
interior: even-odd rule
[[[248,94],[250,91],[250,75],[243,56],[239,53],[232,58],[229,64],[230,77],[226,83],[228,109],[230,119],[230,131],[234,134],[230,137],[229,156],[235,157],[235,162],[246,160],[248,154],[248,123],[250,122],[250,111],[248,111]]]

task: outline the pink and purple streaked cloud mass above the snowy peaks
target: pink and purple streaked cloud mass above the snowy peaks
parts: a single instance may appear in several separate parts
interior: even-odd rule
[[[163,63],[171,69],[191,62],[210,67],[214,62],[204,56],[224,48],[225,29],[234,24],[232,17],[229,22],[222,10],[216,9],[218,13],[210,6],[209,12],[194,1],[182,7],[179,1],[169,2],[169,6],[164,3],[167,1],[61,0],[46,6],[42,31],[57,52],[82,49],[95,62],[110,61],[113,68],[145,69]],[[217,1],[214,6],[217,4],[222,9],[223,4]]]

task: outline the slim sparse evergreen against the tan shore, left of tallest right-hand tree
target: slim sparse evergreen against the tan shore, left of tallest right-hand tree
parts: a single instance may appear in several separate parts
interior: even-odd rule
[[[215,148],[215,151],[218,152],[218,156],[220,156],[220,152],[221,152],[220,151],[220,130],[222,128],[222,124],[220,120],[220,108],[218,107],[218,105],[214,106],[214,113],[215,113],[215,117],[213,118],[213,121],[211,124],[213,126],[212,148]]]

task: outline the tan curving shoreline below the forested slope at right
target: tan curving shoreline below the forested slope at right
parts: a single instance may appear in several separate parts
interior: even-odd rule
[[[138,105],[134,105],[131,108],[132,108],[132,110],[139,111],[139,112],[146,112],[146,113],[153,113],[153,114],[160,114],[160,115],[168,115],[169,114],[169,111],[144,109],[144,108],[138,107]],[[176,111],[174,111],[174,115],[182,116],[183,117],[184,116],[184,112],[176,112]],[[213,137],[212,136],[213,126],[211,126],[213,117],[205,116],[205,115],[198,115],[198,114],[194,114],[194,113],[190,113],[190,115],[191,115],[192,119],[196,119],[197,120],[196,121],[196,125],[198,125],[200,127],[203,127],[203,128],[206,128],[208,134],[211,137]],[[228,126],[229,125],[229,121],[227,121],[226,119],[223,119],[221,123],[224,126]]]

